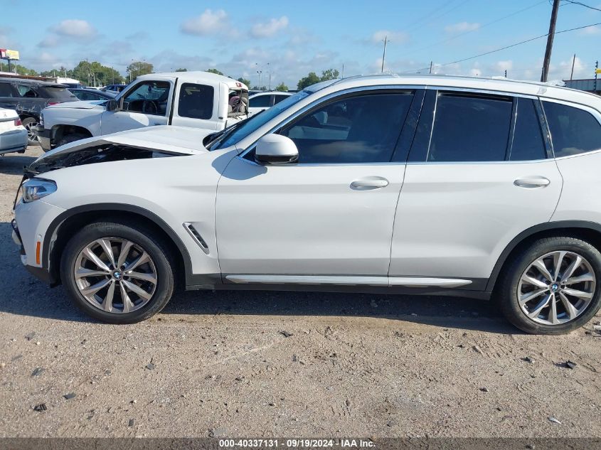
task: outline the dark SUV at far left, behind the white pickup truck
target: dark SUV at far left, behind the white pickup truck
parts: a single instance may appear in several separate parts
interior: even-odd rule
[[[49,105],[78,100],[65,85],[55,82],[0,77],[0,107],[15,109],[27,129],[29,145],[38,144],[40,112]]]

